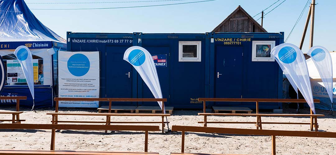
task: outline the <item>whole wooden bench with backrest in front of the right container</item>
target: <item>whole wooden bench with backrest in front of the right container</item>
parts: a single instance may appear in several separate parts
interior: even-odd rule
[[[256,124],[256,129],[262,129],[261,117],[310,117],[310,123],[285,123],[285,122],[263,122],[263,124],[310,124],[310,131],[313,131],[315,127],[315,131],[318,131],[317,117],[322,117],[324,115],[316,115],[312,113],[310,109],[310,114],[260,114],[259,115],[259,102],[306,102],[305,99],[272,99],[272,98],[199,98],[199,101],[203,101],[203,113],[199,113],[199,115],[204,116],[203,123],[204,127],[207,126],[208,123],[237,123],[237,124]],[[209,101],[225,101],[225,102],[255,102],[256,103],[256,114],[250,113],[206,113],[206,102]],[[314,99],[315,103],[319,103],[319,99]],[[257,118],[256,122],[207,122],[207,116],[209,115],[217,115],[217,116],[255,116]],[[314,123],[315,122],[315,123]]]

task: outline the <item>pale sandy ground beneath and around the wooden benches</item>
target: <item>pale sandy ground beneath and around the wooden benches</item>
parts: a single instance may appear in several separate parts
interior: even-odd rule
[[[14,110],[14,108],[1,108],[1,110]],[[51,124],[51,116],[47,112],[52,109],[25,111],[20,119],[25,124]],[[97,112],[96,110],[60,109],[60,112]],[[197,115],[197,110],[174,110],[168,117],[172,125],[202,126],[198,121],[203,118]],[[284,113],[295,113],[294,109],[284,109]],[[308,109],[300,113],[308,114]],[[317,110],[319,114],[326,114],[318,119],[320,131],[336,132],[336,116],[329,111]],[[336,113],[336,112],[335,112]],[[0,115],[0,119],[11,119],[11,115]],[[104,117],[76,117],[60,116],[59,120],[87,120],[104,121]],[[113,121],[161,121],[159,117],[115,117]],[[256,121],[255,117],[208,117],[208,121]],[[264,117],[262,121],[274,122],[309,122],[309,118],[294,117]],[[7,122],[1,122],[7,123]],[[145,125],[145,124],[143,124]],[[146,124],[156,125],[156,124]],[[158,124],[159,126],[160,124]],[[254,124],[209,124],[209,127],[245,128],[255,129]],[[160,126],[161,129],[161,126]],[[167,129],[167,127],[166,127]],[[309,125],[263,125],[263,129],[309,131]],[[0,130],[1,150],[49,150],[51,130]],[[335,138],[305,138],[305,137],[278,137],[276,138],[277,155],[335,155]],[[82,150],[82,151],[135,151],[144,149],[144,132],[114,132],[104,131],[67,131],[56,132],[56,150]],[[159,152],[168,155],[170,152],[181,150],[180,132],[150,132],[149,152]],[[228,153],[228,154],[271,154],[271,137],[244,136],[208,133],[186,133],[185,152],[189,153]]]

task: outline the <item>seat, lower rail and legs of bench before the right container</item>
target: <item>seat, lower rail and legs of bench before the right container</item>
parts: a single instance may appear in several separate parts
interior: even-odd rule
[[[318,131],[319,125],[317,123],[317,117],[323,117],[323,114],[260,114],[260,113],[198,113],[198,115],[204,116],[203,126],[206,127],[208,123],[226,123],[226,124],[255,124],[257,129],[262,129],[262,124],[298,124],[298,125],[310,125],[314,127],[315,131]],[[207,116],[255,116],[257,122],[208,122]],[[261,117],[312,117],[310,123],[296,123],[296,122],[261,122]]]

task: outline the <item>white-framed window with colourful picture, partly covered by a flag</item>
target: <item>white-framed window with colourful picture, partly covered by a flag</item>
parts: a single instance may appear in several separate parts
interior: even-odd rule
[[[252,41],[252,61],[274,61],[270,54],[275,41]]]

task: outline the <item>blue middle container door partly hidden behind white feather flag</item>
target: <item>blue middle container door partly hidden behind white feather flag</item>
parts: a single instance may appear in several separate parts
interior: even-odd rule
[[[152,56],[158,56],[156,63],[156,71],[158,72],[160,86],[163,98],[167,98],[167,102],[165,102],[165,106],[169,105],[169,47],[143,47]],[[161,58],[160,58],[161,57]],[[164,58],[165,57],[165,58]],[[165,62],[164,62],[165,60]],[[166,64],[164,64],[166,63]],[[142,98],[154,98],[151,90],[148,86],[143,82],[140,76],[138,76],[138,81],[142,83]],[[159,106],[158,102],[142,102],[141,105],[143,106]]]

